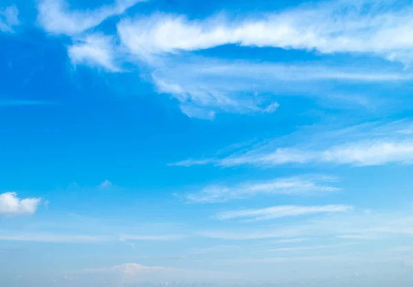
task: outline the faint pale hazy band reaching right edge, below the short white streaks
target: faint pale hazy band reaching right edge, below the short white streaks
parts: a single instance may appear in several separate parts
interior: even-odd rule
[[[320,219],[305,219],[297,222],[278,223],[248,229],[215,229],[199,231],[200,236],[221,240],[262,240],[279,238],[327,238],[342,236],[343,239],[366,240],[366,238],[383,238],[383,236],[410,236],[413,234],[412,214],[364,214],[343,213]]]

